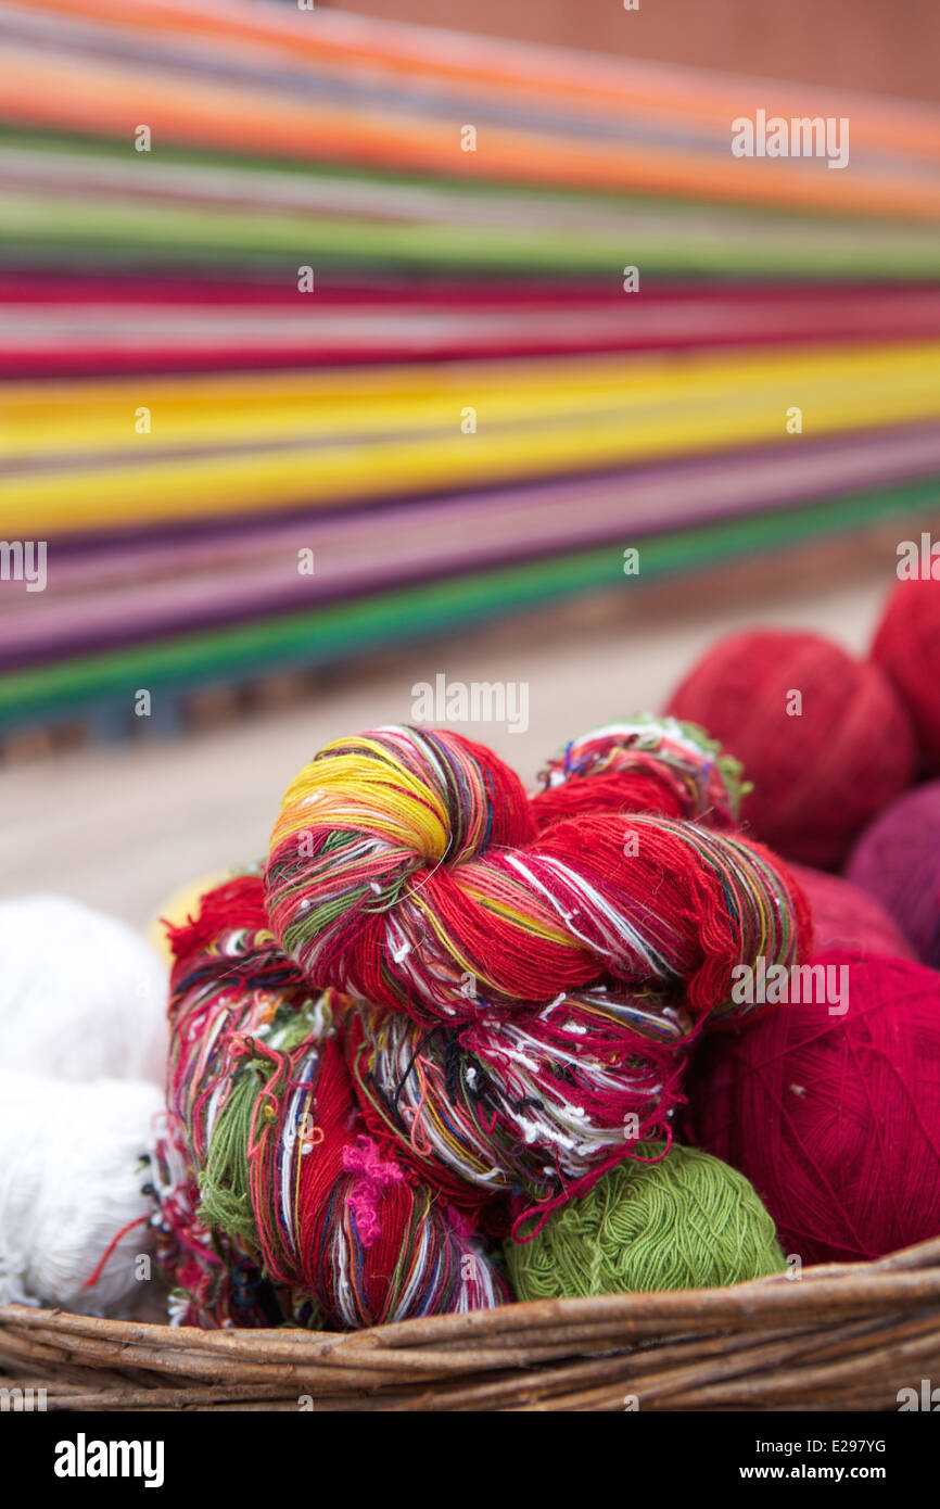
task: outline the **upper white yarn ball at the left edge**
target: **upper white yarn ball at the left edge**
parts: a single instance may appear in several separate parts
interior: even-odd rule
[[[167,972],[124,922],[68,896],[0,901],[0,1064],[60,1079],[166,1071]]]

